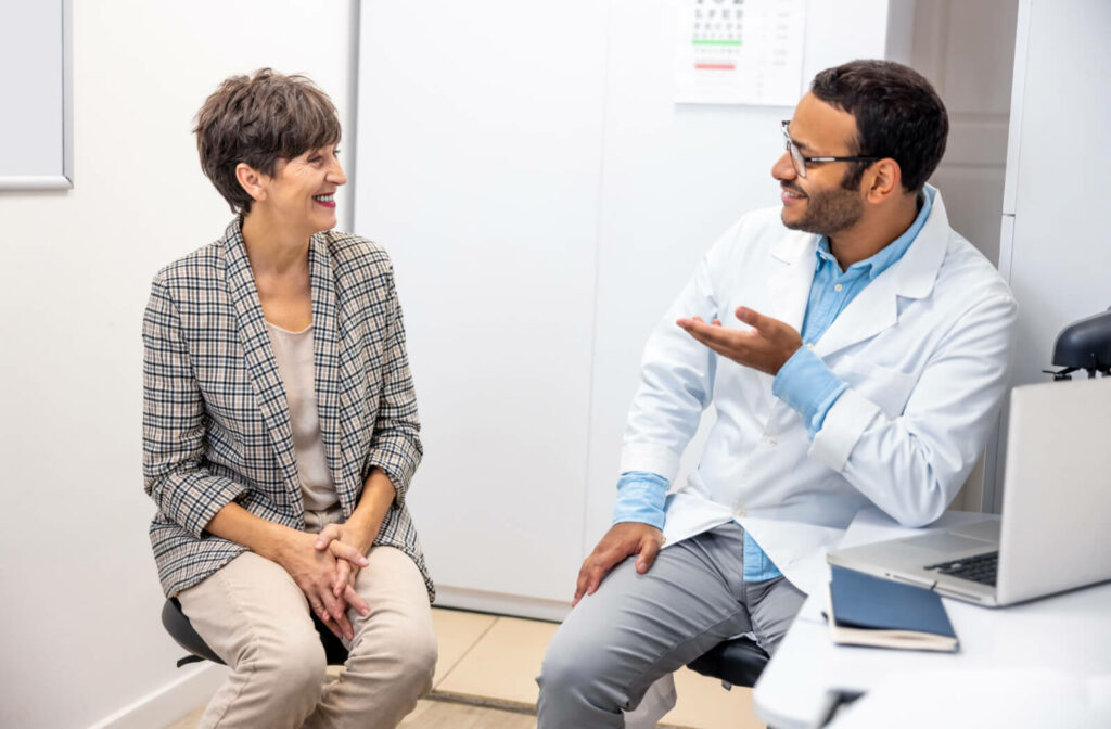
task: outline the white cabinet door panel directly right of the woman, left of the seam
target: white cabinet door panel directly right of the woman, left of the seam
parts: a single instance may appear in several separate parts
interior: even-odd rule
[[[573,592],[605,4],[362,4],[356,231],[394,260],[446,596]]]

